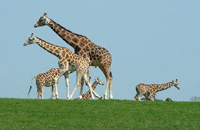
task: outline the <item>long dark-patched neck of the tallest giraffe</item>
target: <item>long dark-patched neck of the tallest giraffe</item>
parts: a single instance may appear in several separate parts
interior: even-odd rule
[[[73,33],[62,27],[52,19],[50,19],[49,27],[74,49],[78,49],[80,47],[78,43],[81,38],[86,38],[85,36]]]

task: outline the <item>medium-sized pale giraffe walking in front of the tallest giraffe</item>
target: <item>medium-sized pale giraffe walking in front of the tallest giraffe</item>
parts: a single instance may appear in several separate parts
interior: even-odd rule
[[[82,56],[79,56],[77,54],[74,54],[69,49],[65,47],[59,47],[55,46],[53,44],[50,44],[38,37],[35,37],[33,33],[28,38],[28,40],[24,43],[24,46],[31,45],[33,43],[37,43],[40,47],[48,51],[49,53],[55,55],[59,59],[59,67],[60,67],[60,76],[64,74],[65,76],[65,82],[67,87],[67,99],[71,99],[74,95],[76,89],[85,83],[88,85],[91,93],[92,93],[92,99],[94,99],[93,93],[98,97],[101,98],[95,91],[92,90],[90,82],[89,82],[89,75],[87,75],[87,71],[89,68],[89,63],[86,59],[84,59]],[[72,92],[72,94],[69,96],[69,72],[76,71],[76,86]],[[83,87],[83,86],[81,86]],[[82,93],[80,93],[81,95]]]

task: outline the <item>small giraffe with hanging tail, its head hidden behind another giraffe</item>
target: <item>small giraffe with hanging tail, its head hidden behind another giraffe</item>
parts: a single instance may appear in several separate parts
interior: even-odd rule
[[[52,87],[52,99],[54,99],[55,97],[56,97],[56,99],[59,98],[58,90],[57,90],[57,84],[60,79],[60,69],[59,68],[52,68],[45,73],[40,73],[37,76],[33,77],[31,80],[31,86],[30,86],[28,95],[31,92],[33,79],[36,79],[38,98],[43,99],[43,89],[45,86]]]

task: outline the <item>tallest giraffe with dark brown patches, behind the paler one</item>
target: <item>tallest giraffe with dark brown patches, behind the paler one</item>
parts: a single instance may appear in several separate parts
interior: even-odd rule
[[[83,56],[89,61],[90,66],[98,66],[106,77],[106,88],[104,92],[104,98],[107,99],[107,92],[109,88],[109,98],[113,98],[112,94],[112,73],[110,71],[112,56],[108,50],[104,47],[94,44],[86,36],[82,36],[71,32],[70,30],[62,27],[52,19],[47,17],[47,13],[44,13],[40,17],[39,21],[34,25],[35,28],[41,26],[49,26],[57,35],[59,35],[66,43],[72,46],[75,53]],[[89,73],[89,71],[88,71]]]

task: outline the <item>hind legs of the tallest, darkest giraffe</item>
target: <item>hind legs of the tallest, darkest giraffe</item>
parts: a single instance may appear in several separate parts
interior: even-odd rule
[[[108,87],[110,88],[110,99],[113,98],[112,95],[112,74],[109,71],[109,67],[107,67],[106,64],[101,64],[100,67],[101,71],[104,73],[105,77],[106,77],[106,89],[104,92],[104,99],[107,99],[107,92],[108,92]]]

